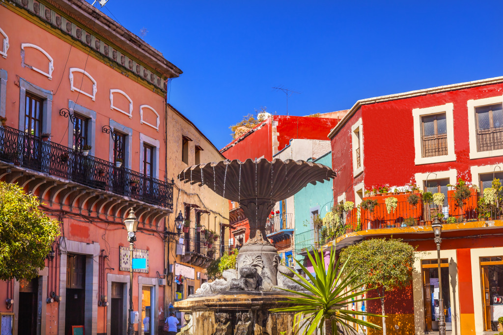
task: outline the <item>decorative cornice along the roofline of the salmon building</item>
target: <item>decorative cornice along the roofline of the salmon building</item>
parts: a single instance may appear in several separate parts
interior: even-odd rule
[[[12,0],[12,3],[162,92],[166,92],[167,78],[182,73],[160,52],[85,1]]]

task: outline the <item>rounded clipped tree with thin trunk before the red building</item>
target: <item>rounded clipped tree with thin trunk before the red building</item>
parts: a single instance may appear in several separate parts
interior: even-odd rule
[[[348,262],[345,273],[354,273],[355,284],[379,289],[383,335],[386,335],[384,292],[401,289],[412,281],[415,248],[401,239],[373,238],[350,245],[341,252],[341,262]]]

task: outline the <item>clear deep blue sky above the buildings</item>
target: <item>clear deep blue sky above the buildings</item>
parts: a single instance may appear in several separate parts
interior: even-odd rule
[[[130,1],[101,9],[184,73],[169,102],[218,147],[256,108],[290,115],[503,75],[503,2]],[[112,13],[112,14],[111,14]]]

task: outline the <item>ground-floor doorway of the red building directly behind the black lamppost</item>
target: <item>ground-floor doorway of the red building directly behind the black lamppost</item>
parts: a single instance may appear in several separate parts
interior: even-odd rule
[[[451,286],[449,284],[449,261],[440,260],[442,274],[442,298],[444,300],[444,315],[446,330],[452,330],[451,316]],[[437,260],[422,261],[423,293],[425,305],[425,330],[432,331],[439,329],[439,271]]]

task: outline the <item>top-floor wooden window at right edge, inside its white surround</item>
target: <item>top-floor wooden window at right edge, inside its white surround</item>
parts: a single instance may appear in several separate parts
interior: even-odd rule
[[[477,151],[503,149],[503,104],[476,107]]]

